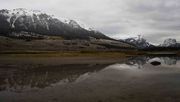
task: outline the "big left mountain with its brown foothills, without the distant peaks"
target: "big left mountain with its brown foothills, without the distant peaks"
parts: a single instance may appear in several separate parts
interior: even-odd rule
[[[0,22],[0,51],[135,49],[75,20],[55,18],[38,10],[3,9]]]

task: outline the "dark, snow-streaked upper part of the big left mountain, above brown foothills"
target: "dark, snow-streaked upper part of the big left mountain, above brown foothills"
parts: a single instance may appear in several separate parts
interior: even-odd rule
[[[38,10],[23,8],[0,10],[0,34],[29,32],[41,35],[57,35],[66,39],[89,37],[109,39],[104,34],[81,27],[74,20],[62,20]]]

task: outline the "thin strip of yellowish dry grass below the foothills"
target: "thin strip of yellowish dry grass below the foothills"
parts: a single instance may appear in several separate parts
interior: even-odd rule
[[[3,51],[0,56],[12,57],[127,57],[136,51]]]

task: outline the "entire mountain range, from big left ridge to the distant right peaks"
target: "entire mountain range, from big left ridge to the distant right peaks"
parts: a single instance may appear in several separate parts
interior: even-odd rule
[[[31,41],[33,39],[48,39],[51,41],[44,44],[44,42],[39,42],[39,47],[49,46],[54,42],[52,39],[63,39],[62,41],[54,42],[53,46],[64,47],[66,42],[70,42],[73,45],[75,42],[78,46],[75,49],[84,48],[81,45],[91,45],[91,47],[86,46],[85,48],[100,48],[100,49],[119,49],[119,48],[136,48],[136,49],[147,49],[147,48],[157,48],[157,47],[173,47],[180,48],[180,43],[176,39],[166,39],[162,44],[156,46],[148,42],[146,39],[141,37],[131,37],[127,39],[115,40],[103,33],[93,30],[91,28],[82,27],[75,20],[69,19],[58,19],[52,15],[48,15],[38,10],[27,10],[24,8],[18,8],[13,10],[2,9],[0,10],[0,36],[5,36],[9,38],[23,39],[26,41]],[[50,38],[50,39],[49,39]],[[0,47],[7,48],[11,45],[4,44],[4,39],[1,39]],[[14,45],[26,46],[20,44],[19,41],[6,41],[11,43],[17,43]],[[66,41],[70,40],[70,41]],[[80,41],[84,40],[84,41]],[[86,43],[88,41],[88,44]],[[60,44],[63,43],[63,44]],[[29,43],[28,43],[29,44]],[[41,45],[41,46],[40,46]],[[62,45],[62,46],[60,46]],[[37,43],[32,42],[32,46],[38,48]],[[30,48],[32,46],[29,46]],[[49,46],[51,47],[51,46]],[[72,46],[71,46],[72,47]],[[14,49],[16,49],[15,47]],[[43,48],[42,48],[43,49]],[[54,48],[53,48],[54,49]],[[70,49],[69,47],[67,49]]]

